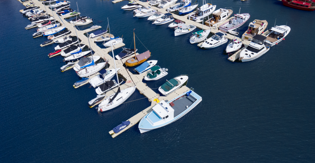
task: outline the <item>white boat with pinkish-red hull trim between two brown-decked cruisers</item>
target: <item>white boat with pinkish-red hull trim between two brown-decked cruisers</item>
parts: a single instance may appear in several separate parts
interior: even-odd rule
[[[249,13],[234,14],[234,19],[222,24],[219,29],[224,32],[241,27],[250,18]]]

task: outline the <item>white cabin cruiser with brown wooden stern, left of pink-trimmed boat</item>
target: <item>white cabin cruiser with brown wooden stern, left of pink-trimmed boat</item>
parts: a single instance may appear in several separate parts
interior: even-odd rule
[[[218,10],[215,10],[212,13],[212,18],[205,21],[204,24],[206,24],[209,27],[214,27],[218,25],[219,23],[221,23],[222,21],[229,18],[232,15],[232,13],[233,13],[233,10],[231,9],[220,8]]]

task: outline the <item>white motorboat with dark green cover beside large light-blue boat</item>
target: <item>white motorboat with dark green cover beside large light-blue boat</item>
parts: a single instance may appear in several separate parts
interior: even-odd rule
[[[186,83],[187,80],[188,75],[176,76],[169,81],[166,80],[166,82],[162,86],[160,86],[158,90],[162,93],[162,95],[168,96],[170,93],[179,89],[184,83]]]

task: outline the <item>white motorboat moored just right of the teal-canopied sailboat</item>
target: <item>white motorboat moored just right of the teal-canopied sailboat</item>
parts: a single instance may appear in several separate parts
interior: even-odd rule
[[[203,42],[200,47],[205,48],[205,49],[209,49],[209,48],[215,48],[215,47],[218,47],[220,45],[223,45],[223,44],[227,43],[227,41],[229,40],[225,36],[226,36],[225,33],[217,32],[212,37],[210,37],[209,39],[206,39],[206,41]]]

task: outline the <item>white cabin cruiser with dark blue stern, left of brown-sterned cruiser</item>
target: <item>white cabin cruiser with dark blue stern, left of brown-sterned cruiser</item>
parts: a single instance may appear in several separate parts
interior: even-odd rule
[[[202,5],[200,8],[197,8],[195,14],[189,15],[188,19],[196,21],[202,18],[205,18],[208,15],[211,15],[215,11],[216,5],[212,6],[212,4],[207,3]]]

